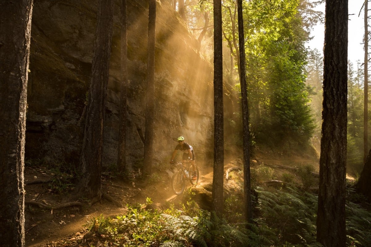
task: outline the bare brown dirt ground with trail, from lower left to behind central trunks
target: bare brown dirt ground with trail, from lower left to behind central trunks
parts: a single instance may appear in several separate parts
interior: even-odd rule
[[[277,168],[277,166],[294,167],[298,164],[311,163],[315,166],[318,173],[318,161],[314,159],[305,159],[298,157],[287,158],[269,158],[268,155],[259,154],[251,162],[251,167],[258,164],[267,164],[275,166],[275,173],[279,176],[285,172],[285,168]],[[213,179],[213,167],[211,164],[197,163],[200,168],[200,179],[196,187],[210,186]],[[225,159],[224,170],[240,165],[241,160],[236,158]],[[280,171],[282,170],[282,171]],[[88,201],[82,201],[82,204],[69,206],[66,203],[71,202],[70,198],[73,195],[73,188],[70,188],[68,193],[56,193],[50,187],[50,181],[54,184],[59,180],[55,180],[56,175],[46,167],[27,167],[24,169],[24,183],[26,190],[26,206],[25,206],[25,232],[27,247],[46,247],[53,246],[53,243],[68,240],[73,238],[83,238],[86,234],[86,224],[91,222],[94,217],[114,217],[119,214],[124,214],[127,210],[126,204],[144,204],[146,198],[151,198],[155,208],[164,208],[171,203],[176,203],[182,200],[181,196],[175,196],[171,189],[171,177],[166,173],[157,181],[152,183],[141,183],[132,180],[124,182],[115,177],[107,175],[102,176],[102,191],[116,201],[121,201],[122,205],[118,205],[114,201],[106,200],[109,197],[103,197],[101,201],[90,205]],[[41,181],[45,183],[40,183]],[[49,181],[47,183],[46,181]],[[62,186],[63,184],[60,184]],[[188,183],[188,186],[191,186]],[[233,186],[229,183],[224,183],[224,187]],[[36,203],[35,203],[36,202]],[[37,205],[39,204],[39,205]],[[66,207],[58,208],[60,205]],[[51,209],[54,207],[54,209]]]

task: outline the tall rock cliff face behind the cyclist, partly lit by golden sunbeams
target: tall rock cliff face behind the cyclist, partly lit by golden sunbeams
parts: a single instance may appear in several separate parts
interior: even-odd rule
[[[143,157],[148,4],[128,1],[127,161]],[[115,5],[104,129],[104,165],[116,163],[120,88],[119,1]],[[34,2],[26,158],[76,163],[96,28],[96,1]],[[212,67],[196,52],[196,38],[167,3],[157,3],[154,165],[167,162],[184,136],[198,158],[213,152]]]

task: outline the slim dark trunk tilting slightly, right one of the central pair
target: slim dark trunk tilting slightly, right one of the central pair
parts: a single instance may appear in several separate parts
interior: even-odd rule
[[[238,41],[240,61],[240,85],[242,102],[242,138],[243,138],[243,194],[245,220],[252,223],[252,205],[250,194],[250,131],[249,131],[249,104],[247,101],[245,37],[243,33],[242,0],[237,0],[238,11]]]

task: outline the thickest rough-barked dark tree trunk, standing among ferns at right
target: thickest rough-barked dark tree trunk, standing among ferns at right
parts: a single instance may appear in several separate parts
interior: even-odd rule
[[[325,247],[346,246],[347,37],[348,0],[327,0],[317,211],[317,241]]]

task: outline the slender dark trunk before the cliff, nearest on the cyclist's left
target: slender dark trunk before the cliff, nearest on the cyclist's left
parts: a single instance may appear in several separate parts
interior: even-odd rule
[[[156,29],[156,0],[150,0],[148,9],[148,61],[147,61],[147,92],[145,107],[144,132],[144,167],[143,173],[148,176],[152,172],[153,144],[153,110],[155,91],[155,29]]]

